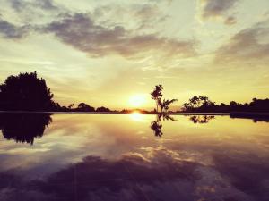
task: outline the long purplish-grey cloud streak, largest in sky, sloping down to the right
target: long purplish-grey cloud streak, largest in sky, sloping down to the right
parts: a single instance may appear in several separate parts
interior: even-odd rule
[[[156,34],[135,35],[122,26],[112,28],[97,25],[85,13],[67,15],[61,21],[53,21],[40,29],[53,33],[65,44],[74,46],[91,56],[120,54],[132,57],[146,52],[189,56],[195,54],[194,41],[161,38]]]

